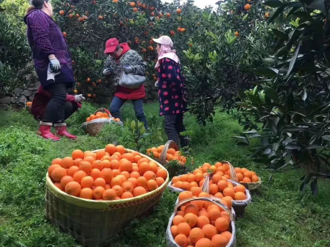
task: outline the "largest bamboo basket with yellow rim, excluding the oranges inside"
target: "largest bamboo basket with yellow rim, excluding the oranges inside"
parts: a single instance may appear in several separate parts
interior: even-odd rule
[[[126,151],[132,152],[128,149]],[[140,155],[152,160],[144,154]],[[157,165],[164,168],[159,163]],[[111,246],[109,240],[114,233],[127,226],[133,218],[146,216],[152,211],[168,181],[167,175],[165,183],[160,187],[138,197],[95,201],[66,194],[53,184],[47,173],[46,218],[84,246],[103,246],[107,242]]]

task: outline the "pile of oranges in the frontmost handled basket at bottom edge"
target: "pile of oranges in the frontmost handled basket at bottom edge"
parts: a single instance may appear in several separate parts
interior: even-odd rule
[[[184,191],[180,193],[179,201],[193,197],[191,192]],[[226,200],[221,202],[227,205]],[[231,219],[222,207],[196,200],[179,209],[173,218],[171,233],[180,247],[224,247],[229,243]]]

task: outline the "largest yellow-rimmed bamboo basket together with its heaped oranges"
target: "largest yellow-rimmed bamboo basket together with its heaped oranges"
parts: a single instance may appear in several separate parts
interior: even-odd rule
[[[103,246],[133,218],[148,215],[168,181],[161,164],[122,146],[75,150],[48,169],[46,218],[84,246]]]

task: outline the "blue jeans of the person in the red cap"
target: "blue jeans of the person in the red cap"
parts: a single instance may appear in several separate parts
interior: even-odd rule
[[[125,101],[126,101],[126,99],[122,99],[117,96],[114,96],[114,98],[111,101],[110,108],[109,108],[111,115],[114,118],[119,118],[121,121],[123,121],[123,119],[121,119],[120,108],[125,103]],[[147,122],[146,115],[144,114],[144,110],[143,110],[143,99],[132,99],[132,102],[133,102],[136,118],[140,122],[144,123],[145,128],[148,128],[148,122]]]

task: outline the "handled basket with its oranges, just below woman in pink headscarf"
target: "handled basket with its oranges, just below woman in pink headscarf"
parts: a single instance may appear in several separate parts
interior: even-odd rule
[[[169,140],[165,145],[148,149],[147,154],[166,167],[171,178],[187,172],[184,166],[187,159],[180,153],[175,141]]]

